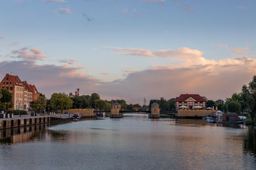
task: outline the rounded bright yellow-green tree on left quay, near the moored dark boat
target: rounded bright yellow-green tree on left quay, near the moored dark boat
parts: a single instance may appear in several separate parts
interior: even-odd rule
[[[72,107],[73,101],[65,93],[54,93],[51,96],[51,105],[54,109],[60,109],[62,113],[63,110],[68,110]]]

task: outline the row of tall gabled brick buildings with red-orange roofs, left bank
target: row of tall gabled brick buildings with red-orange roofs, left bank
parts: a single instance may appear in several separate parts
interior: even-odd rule
[[[39,96],[35,85],[29,85],[27,81],[21,81],[19,76],[6,74],[0,83],[1,89],[12,93],[14,110],[28,110],[30,103],[36,101]]]

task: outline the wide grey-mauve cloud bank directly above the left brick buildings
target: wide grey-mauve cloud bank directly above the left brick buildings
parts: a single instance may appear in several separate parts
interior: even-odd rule
[[[0,62],[0,77],[3,78],[6,73],[18,75],[21,80],[35,84],[38,91],[46,94],[47,97],[51,97],[54,92],[66,92],[68,94],[77,87],[81,87],[81,91],[91,94],[100,85],[96,78],[84,74],[77,67],[56,66],[54,64],[39,65],[34,60]]]

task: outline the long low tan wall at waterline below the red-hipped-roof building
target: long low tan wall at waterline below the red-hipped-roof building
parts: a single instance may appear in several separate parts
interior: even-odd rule
[[[177,117],[215,117],[216,111],[212,110],[178,110]]]

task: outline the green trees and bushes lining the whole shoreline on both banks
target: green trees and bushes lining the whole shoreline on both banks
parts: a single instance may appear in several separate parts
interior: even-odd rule
[[[218,107],[218,110],[224,113],[238,113],[239,115],[250,115],[248,120],[255,122],[256,114],[256,75],[253,76],[252,81],[248,83],[248,86],[243,85],[241,92],[232,94],[231,97],[216,101],[209,100],[207,97],[203,97],[206,101],[206,108]],[[127,104],[124,99],[115,99],[111,101],[100,99],[99,94],[93,93],[91,95],[74,96],[72,93],[54,93],[51,99],[46,99],[44,94],[40,94],[35,102],[31,103],[31,111],[49,112],[69,109],[86,109],[94,108],[95,110],[111,109],[112,103],[120,103],[123,110],[150,110],[150,105],[154,102],[159,104],[161,111],[175,111],[175,98],[172,99],[151,99],[149,104]],[[0,109],[6,112],[8,108],[12,108],[12,94],[6,90],[0,91]],[[9,111],[10,112],[10,111]]]

